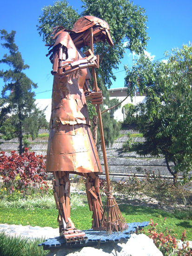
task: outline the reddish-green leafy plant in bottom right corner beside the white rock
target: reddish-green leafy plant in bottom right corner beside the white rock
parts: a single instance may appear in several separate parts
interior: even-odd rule
[[[166,217],[164,218],[163,225],[166,224]],[[157,248],[163,253],[164,256],[190,256],[192,253],[192,250],[189,247],[189,242],[186,240],[186,232],[185,229],[182,232],[181,241],[183,242],[182,248],[179,249],[178,247],[178,241],[175,236],[177,234],[174,234],[174,230],[167,229],[162,230],[162,225],[158,228],[158,223],[154,223],[151,219],[151,222],[149,223],[150,228],[147,229],[147,232],[145,232],[143,229],[141,230],[141,233],[146,234],[150,238],[152,238],[154,244],[157,246]]]

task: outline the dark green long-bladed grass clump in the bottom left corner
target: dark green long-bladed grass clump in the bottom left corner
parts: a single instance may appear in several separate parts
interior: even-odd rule
[[[21,236],[8,236],[0,233],[0,255],[1,256],[46,256],[46,250],[37,245],[42,243],[41,239],[23,238]]]

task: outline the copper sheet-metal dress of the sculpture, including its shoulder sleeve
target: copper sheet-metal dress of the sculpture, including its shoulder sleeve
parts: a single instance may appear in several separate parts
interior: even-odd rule
[[[83,59],[66,31],[56,37],[53,59],[54,49],[57,47],[63,49],[66,61],[75,63]],[[84,94],[84,82],[89,76],[88,69],[77,69],[67,75],[52,74],[54,75],[52,114],[46,171],[102,172],[90,131]]]

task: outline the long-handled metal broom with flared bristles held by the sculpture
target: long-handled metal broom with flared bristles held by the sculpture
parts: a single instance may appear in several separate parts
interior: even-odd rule
[[[93,52],[93,27],[90,28],[90,48]],[[92,68],[92,73],[93,73],[94,89],[95,89],[95,92],[98,92],[97,77],[96,77],[94,67]],[[103,216],[100,222],[100,229],[106,229],[106,233],[111,234],[112,231],[122,232],[124,229],[127,229],[128,226],[119,210],[119,206],[117,202],[115,201],[112,195],[110,181],[109,181],[109,171],[108,171],[107,159],[106,159],[106,147],[105,147],[105,140],[104,140],[104,134],[103,134],[101,110],[99,105],[96,105],[96,108],[97,108],[97,114],[99,118],[99,130],[100,130],[100,136],[101,136],[101,146],[102,146],[104,166],[105,166],[106,189],[107,189],[106,191],[107,200],[106,200]]]

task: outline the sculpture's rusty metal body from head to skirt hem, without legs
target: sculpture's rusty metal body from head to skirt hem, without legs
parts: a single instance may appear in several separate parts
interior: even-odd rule
[[[93,27],[95,41],[113,41],[108,24],[96,17],[80,18],[72,30],[56,27],[55,43],[49,51],[53,63],[52,114],[48,141],[46,171],[102,172],[99,156],[90,132],[85,92],[91,78],[87,67],[98,66],[92,51],[86,57],[78,49],[79,40],[90,41]],[[87,43],[84,41],[84,45]],[[77,47],[78,46],[78,47]],[[93,95],[94,94],[94,95]],[[90,94],[93,104],[102,104],[101,93]]]

